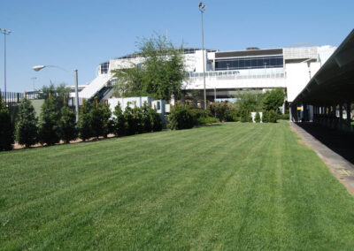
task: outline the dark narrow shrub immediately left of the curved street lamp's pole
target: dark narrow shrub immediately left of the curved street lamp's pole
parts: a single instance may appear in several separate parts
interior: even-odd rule
[[[69,143],[70,141],[76,140],[78,137],[78,131],[76,129],[76,114],[67,107],[64,106],[60,110],[61,118],[59,120],[59,135],[60,139]]]

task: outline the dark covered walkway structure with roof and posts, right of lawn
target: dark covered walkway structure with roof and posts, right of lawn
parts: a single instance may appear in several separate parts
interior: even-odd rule
[[[312,120],[353,133],[353,103],[354,29],[296,96],[290,107],[290,118],[292,121]]]

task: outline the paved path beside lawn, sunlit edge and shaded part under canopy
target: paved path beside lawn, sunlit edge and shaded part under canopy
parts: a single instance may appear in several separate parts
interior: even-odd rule
[[[354,135],[313,123],[289,123],[354,196]]]

